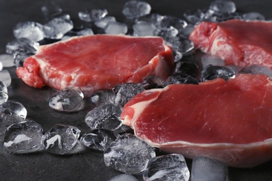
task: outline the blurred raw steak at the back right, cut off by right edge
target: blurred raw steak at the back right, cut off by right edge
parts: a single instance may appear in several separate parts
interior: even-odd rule
[[[195,47],[216,55],[227,65],[264,65],[272,69],[272,22],[233,19],[202,22],[190,34]]]

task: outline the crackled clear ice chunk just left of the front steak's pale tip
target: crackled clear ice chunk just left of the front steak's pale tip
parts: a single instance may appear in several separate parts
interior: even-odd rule
[[[86,114],[85,123],[91,129],[107,129],[114,131],[121,127],[122,108],[116,104],[105,104],[95,107]]]

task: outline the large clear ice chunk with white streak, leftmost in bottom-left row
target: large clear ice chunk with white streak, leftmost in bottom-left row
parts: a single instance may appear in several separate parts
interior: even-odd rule
[[[14,123],[6,129],[3,148],[10,153],[36,152],[40,149],[43,127],[33,120]]]

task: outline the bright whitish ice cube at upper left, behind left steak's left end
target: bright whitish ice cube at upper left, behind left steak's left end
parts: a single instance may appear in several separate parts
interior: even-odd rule
[[[13,28],[15,38],[29,38],[33,41],[43,40],[43,25],[37,22],[20,22]]]

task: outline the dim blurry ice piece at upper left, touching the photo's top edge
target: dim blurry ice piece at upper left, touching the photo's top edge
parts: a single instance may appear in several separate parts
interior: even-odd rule
[[[55,1],[47,1],[42,7],[41,7],[42,13],[45,16],[45,18],[51,19],[53,17],[56,17],[57,15],[61,15],[62,9],[61,7],[56,4]]]

